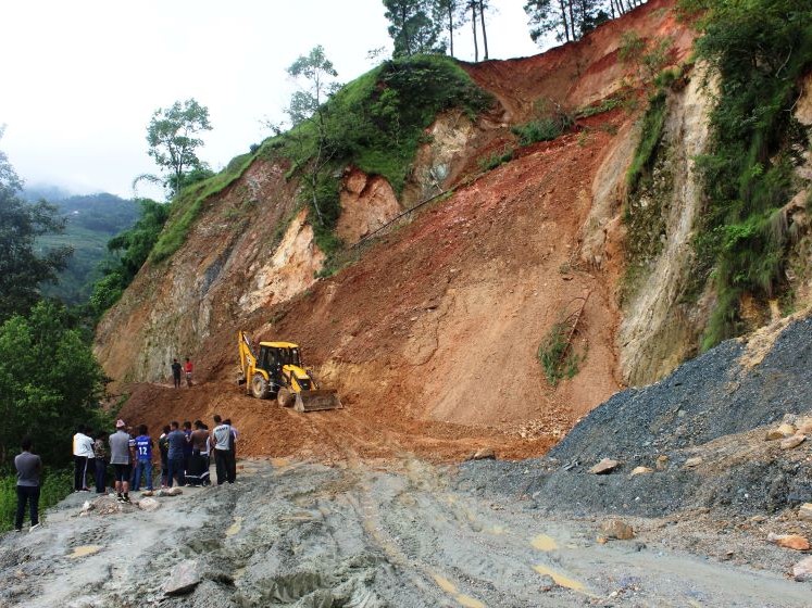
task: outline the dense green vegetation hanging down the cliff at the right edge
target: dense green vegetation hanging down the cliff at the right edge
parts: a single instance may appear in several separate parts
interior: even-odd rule
[[[710,151],[698,160],[708,201],[695,274],[712,276],[717,294],[702,342],[709,349],[745,329],[742,295],[786,289],[780,208],[797,191],[794,167],[809,145],[791,110],[812,68],[812,8],[795,0],[683,0],[680,8],[700,15],[697,55],[720,77]]]

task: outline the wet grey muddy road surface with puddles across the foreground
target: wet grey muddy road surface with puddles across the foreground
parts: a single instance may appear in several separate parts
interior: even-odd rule
[[[73,494],[0,541],[20,607],[775,606],[808,584],[462,490],[453,467],[247,461],[237,483],[95,509]],[[139,495],[133,494],[135,501]],[[111,503],[112,505],[112,503]],[[103,505],[100,504],[100,507]],[[185,590],[168,595],[172,583]]]

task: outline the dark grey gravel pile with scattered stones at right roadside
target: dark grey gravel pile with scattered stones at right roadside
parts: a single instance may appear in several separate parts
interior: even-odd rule
[[[812,502],[810,442],[785,453],[753,430],[812,410],[812,319],[791,322],[752,368],[739,363],[746,347],[724,342],[655,384],[613,395],[545,458],[466,463],[458,483],[576,515],[748,515]],[[692,457],[702,463],[686,467]],[[590,473],[602,458],[621,466]],[[638,466],[657,469],[658,458],[661,470],[629,474]]]

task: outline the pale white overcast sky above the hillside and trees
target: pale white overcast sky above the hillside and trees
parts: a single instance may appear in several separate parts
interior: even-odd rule
[[[492,59],[538,52],[522,0],[494,0]],[[473,60],[471,28],[455,36]],[[157,173],[152,113],[195,98],[214,127],[200,157],[220,169],[270,132],[293,90],[285,72],[316,45],[349,81],[391,52],[380,0],[21,0],[0,7],[0,149],[29,186],[133,195]],[[152,194],[143,188],[140,194]]]

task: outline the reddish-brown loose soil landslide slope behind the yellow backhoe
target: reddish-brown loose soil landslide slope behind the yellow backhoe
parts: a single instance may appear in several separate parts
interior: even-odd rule
[[[652,1],[629,18],[659,35],[676,27],[663,7]],[[585,105],[621,86],[624,69],[605,60],[620,28],[610,24],[578,45],[467,69],[497,93],[510,119],[549,90]],[[575,81],[573,65],[591,84]],[[576,251],[596,172],[613,134],[633,119],[621,111],[594,116],[580,132],[523,149],[425,207],[337,276],[288,302],[224,319],[193,354],[198,385],[135,384],[122,416],[154,432],[170,419],[210,421],[220,413],[242,432],[240,452],[252,455],[411,452],[455,459],[483,446],[508,458],[545,452],[619,388],[614,290],[622,259],[589,271],[577,268]],[[503,127],[491,130],[507,137]],[[471,151],[469,175],[483,153]],[[577,346],[586,357],[575,378],[550,387],[536,351],[585,293]],[[300,415],[245,396],[234,382],[238,329],[300,343],[347,407]]]

